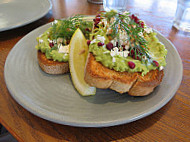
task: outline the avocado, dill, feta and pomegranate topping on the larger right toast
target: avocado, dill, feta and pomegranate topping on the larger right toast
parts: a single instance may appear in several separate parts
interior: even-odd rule
[[[94,19],[89,51],[96,61],[120,72],[162,70],[167,50],[144,21],[129,12],[102,12]]]

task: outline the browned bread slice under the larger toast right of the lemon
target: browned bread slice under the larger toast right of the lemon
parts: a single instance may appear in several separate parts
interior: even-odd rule
[[[163,70],[152,70],[145,76],[111,70],[97,62],[93,54],[89,53],[84,79],[90,86],[97,88],[110,88],[119,93],[128,92],[131,96],[145,96],[161,83],[163,75]]]

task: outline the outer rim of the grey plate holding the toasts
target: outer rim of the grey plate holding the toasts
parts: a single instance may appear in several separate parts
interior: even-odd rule
[[[37,29],[31,31],[30,33],[28,33],[27,35],[25,35],[21,40],[19,40],[15,46],[13,47],[13,50],[14,48],[20,43],[22,42],[26,36],[29,36],[30,34],[32,34],[33,32],[36,32],[37,30],[39,30],[40,28],[42,27],[45,27],[47,25],[50,25],[50,23],[47,23],[43,26],[40,26],[38,27]],[[128,120],[125,120],[125,119],[117,119],[116,121],[110,121],[110,122],[102,122],[102,123],[85,123],[85,122],[82,122],[82,123],[76,123],[76,122],[68,122],[68,121],[60,121],[60,120],[57,120],[57,119],[52,119],[52,118],[49,118],[45,115],[42,115],[40,114],[39,112],[36,112],[35,109],[31,109],[29,108],[28,106],[24,105],[15,95],[14,95],[14,92],[11,90],[11,88],[8,87],[8,83],[7,83],[7,79],[6,79],[6,66],[7,66],[7,59],[5,61],[5,66],[4,66],[4,79],[5,79],[5,83],[6,83],[6,86],[10,92],[10,95],[18,102],[18,104],[20,104],[23,108],[25,108],[26,110],[28,110],[29,112],[31,112],[32,114],[40,117],[40,118],[43,118],[45,120],[48,120],[48,121],[51,121],[51,122],[55,122],[55,123],[58,123],[58,124],[63,124],[63,125],[69,125],[69,126],[76,126],[76,127],[109,127],[109,126],[116,126],[116,125],[121,125],[121,124],[126,124],[126,123],[130,123],[130,122],[133,122],[133,121],[136,121],[136,120],[139,120],[139,119],[142,119],[154,112],[156,112],[157,110],[159,110],[160,108],[162,108],[164,105],[166,105],[172,98],[173,96],[175,95],[176,91],[178,90],[180,84],[181,84],[181,81],[182,81],[182,77],[183,77],[183,64],[182,64],[182,60],[179,56],[179,53],[177,51],[177,49],[175,48],[175,46],[171,43],[170,40],[168,40],[167,38],[165,38],[161,33],[159,33],[157,30],[154,30],[155,32],[157,32],[159,34],[159,36],[163,37],[174,49],[176,55],[177,55],[177,58],[178,60],[180,61],[179,64],[180,64],[180,67],[179,67],[179,72],[180,72],[180,76],[178,77],[179,81],[175,84],[175,86],[173,88],[175,88],[172,92],[170,92],[170,95],[168,95],[168,97],[164,98],[160,103],[158,103],[157,105],[151,107],[150,110],[146,110],[146,113],[145,112],[141,112],[141,114],[138,114],[138,116],[135,116],[131,119],[128,119]],[[11,52],[13,52],[13,50],[11,50],[9,52],[9,54]],[[8,54],[8,56],[9,56]],[[8,58],[7,56],[7,58]]]

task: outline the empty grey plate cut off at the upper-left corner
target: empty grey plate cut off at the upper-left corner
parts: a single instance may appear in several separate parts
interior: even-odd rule
[[[1,0],[0,32],[34,22],[45,16],[51,7],[49,0]]]

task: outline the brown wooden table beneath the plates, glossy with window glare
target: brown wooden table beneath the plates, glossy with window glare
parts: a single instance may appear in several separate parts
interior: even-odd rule
[[[131,0],[127,8],[161,32],[177,48],[183,61],[183,80],[175,97],[141,120],[107,128],[80,128],[43,120],[21,107],[4,80],[4,64],[13,46],[28,32],[54,19],[96,14],[102,5],[87,0],[52,0],[52,10],[40,20],[0,33],[0,123],[18,140],[39,141],[190,141],[190,35],[172,27],[176,0]]]

